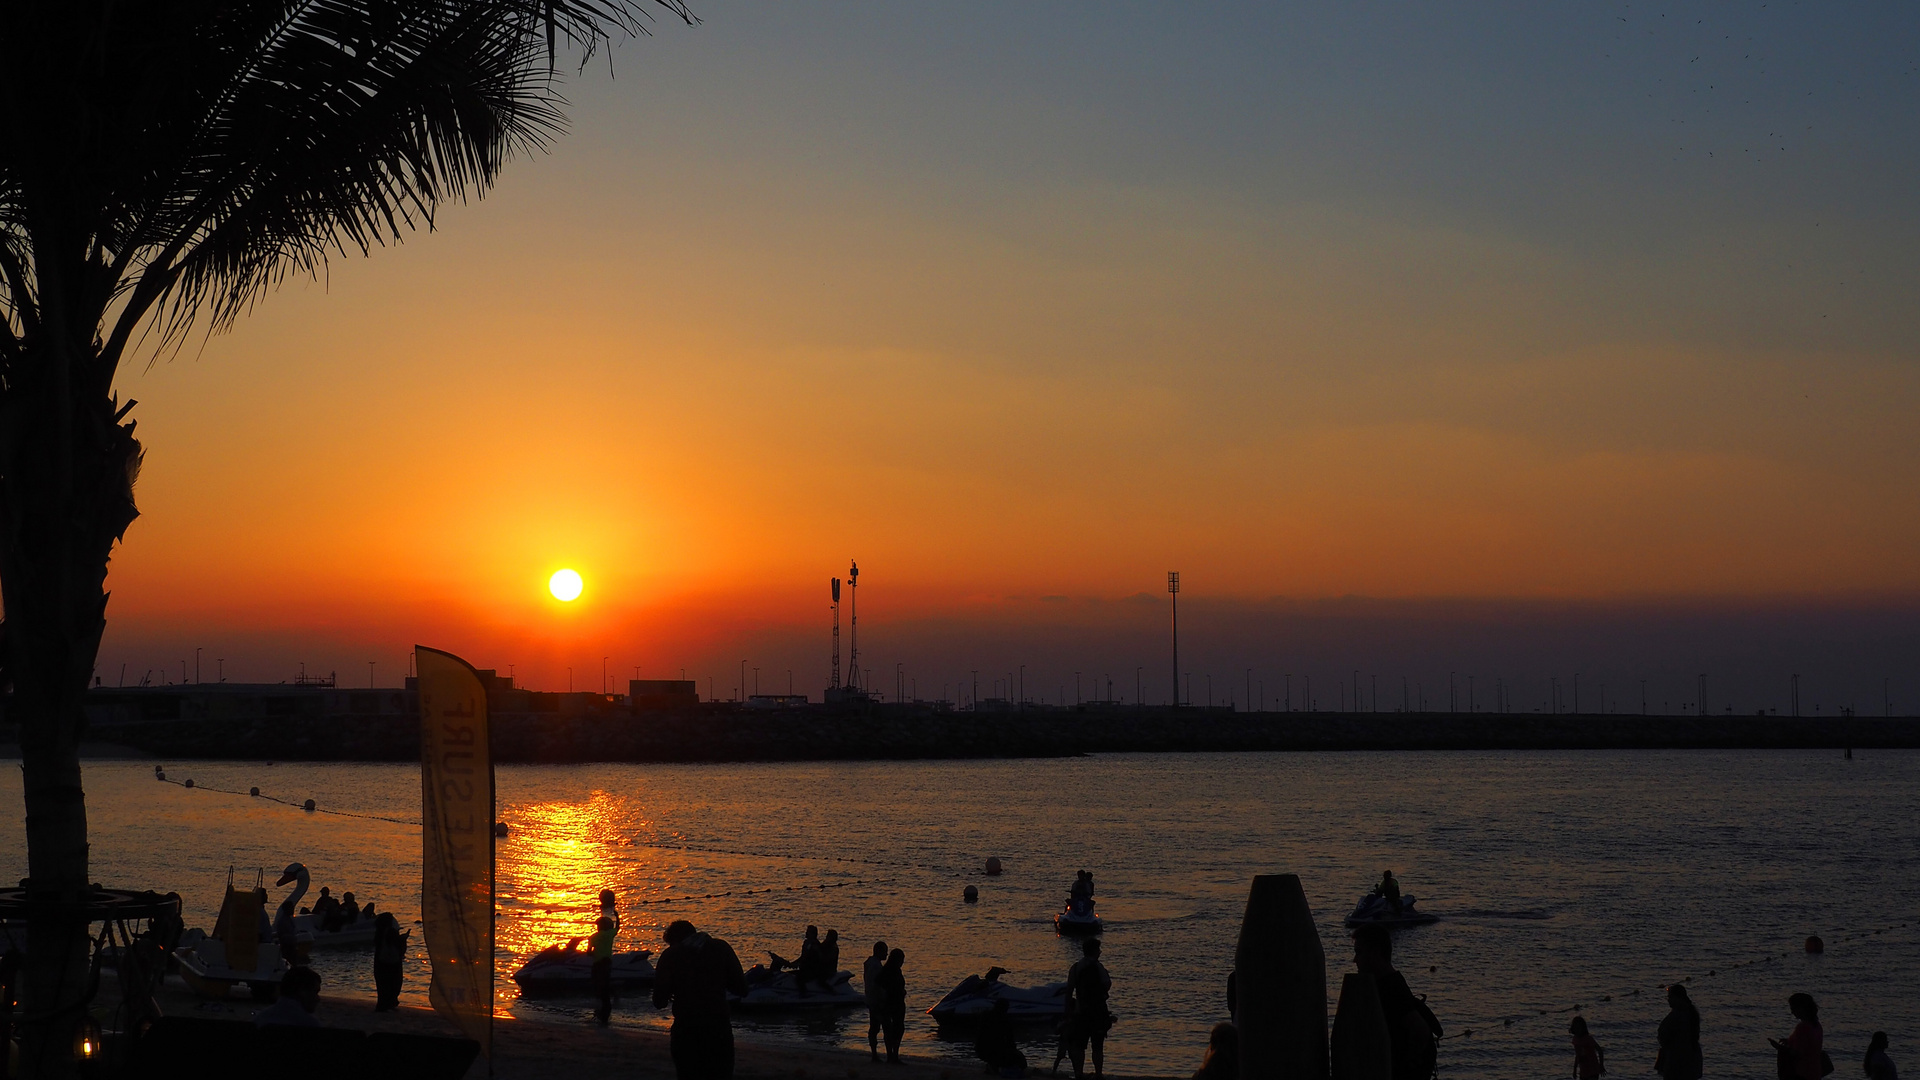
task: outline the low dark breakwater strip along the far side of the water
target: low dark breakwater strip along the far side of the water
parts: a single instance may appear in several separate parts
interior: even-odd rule
[[[0,755],[17,753],[0,724]],[[419,761],[411,715],[194,717],[94,723],[83,757]],[[1914,717],[1642,717],[1498,713],[1235,713],[906,707],[493,715],[501,765],[958,761],[1089,753],[1488,749],[1916,749]]]

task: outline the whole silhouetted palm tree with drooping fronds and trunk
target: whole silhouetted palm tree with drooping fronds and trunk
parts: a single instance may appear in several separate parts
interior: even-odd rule
[[[482,194],[559,135],[557,46],[584,63],[645,33],[641,4],[0,0],[0,682],[29,1074],[73,1070],[86,1005],[83,696],[144,454],[115,373]]]

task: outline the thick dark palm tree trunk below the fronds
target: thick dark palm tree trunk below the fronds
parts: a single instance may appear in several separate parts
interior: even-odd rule
[[[58,334],[50,334],[58,342]],[[46,348],[0,405],[0,598],[27,803],[25,1076],[75,1074],[86,1019],[86,796],[83,698],[106,628],[106,573],[132,523],[140,444],[121,425],[90,348]]]

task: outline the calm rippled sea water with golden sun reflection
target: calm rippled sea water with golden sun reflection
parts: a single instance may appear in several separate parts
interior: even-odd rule
[[[411,765],[165,763],[204,788],[419,821]],[[269,884],[292,859],[315,888],[417,919],[419,826],[307,815],[154,780],[152,763],[86,767],[94,876],[177,890],[211,926],[228,865]],[[19,805],[19,773],[0,771]],[[1442,922],[1398,936],[1398,963],[1446,1022],[1442,1072],[1571,1074],[1578,1005],[1611,1074],[1649,1076],[1659,986],[1692,978],[1709,1076],[1772,1076],[1786,995],[1814,994],[1839,1074],[1876,1028],[1920,1070],[1920,753],[1235,753],[1060,761],[501,767],[501,1009],[538,947],[591,928],[620,892],[624,944],[659,949],[672,919],[728,938],[747,963],[795,955],[806,922],[839,928],[843,967],[876,938],[906,949],[918,1013],[968,972],[1064,978],[1052,934],[1073,871],[1108,919],[1119,1024],[1108,1068],[1185,1074],[1225,1019],[1248,878],[1298,872],[1329,980],[1352,970],[1340,917],[1394,869]],[[1000,878],[977,867],[996,855]],[[0,880],[25,874],[21,821],[0,819]],[[977,905],[962,890],[981,890]],[[751,890],[751,894],[749,894]],[[770,892],[768,892],[770,890]],[[730,896],[720,896],[730,894]],[[284,896],[275,892],[275,899]],[[685,899],[707,897],[707,899]],[[1880,930],[1878,934],[1874,934]],[[1822,934],[1828,951],[1801,942]],[[330,992],[365,990],[371,957],[317,963]],[[424,1001],[415,949],[407,995]],[[664,1026],[643,999],[616,1022]],[[864,1013],[741,1020],[758,1038],[856,1045]],[[966,1057],[912,1015],[910,1051]],[[1044,1040],[1029,1057],[1052,1059]]]

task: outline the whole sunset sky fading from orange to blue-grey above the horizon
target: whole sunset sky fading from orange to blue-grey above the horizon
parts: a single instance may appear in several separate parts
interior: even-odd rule
[[[889,696],[1165,700],[1179,569],[1238,701],[1920,705],[1920,12],[695,13],[484,200],[129,365],[104,682],[818,696],[858,559]]]

